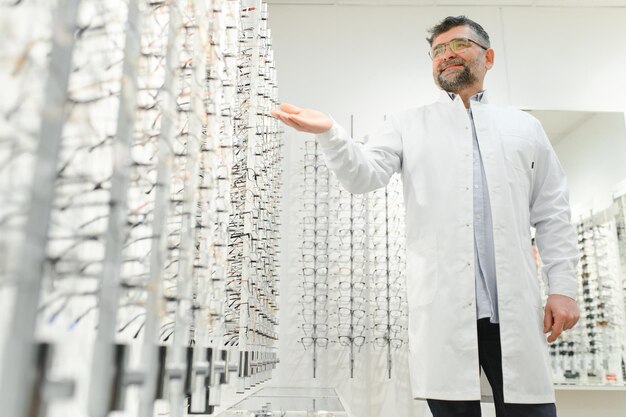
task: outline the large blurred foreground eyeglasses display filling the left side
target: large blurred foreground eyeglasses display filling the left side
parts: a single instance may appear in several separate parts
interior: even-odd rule
[[[225,385],[267,381],[283,146],[267,4],[0,14],[3,413],[210,415]]]

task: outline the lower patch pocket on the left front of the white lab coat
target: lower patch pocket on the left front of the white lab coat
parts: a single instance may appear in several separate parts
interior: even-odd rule
[[[437,241],[433,238],[407,243],[407,293],[409,305],[432,303],[437,292]]]

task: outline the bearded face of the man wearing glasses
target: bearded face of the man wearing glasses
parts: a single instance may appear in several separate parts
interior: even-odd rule
[[[469,26],[457,26],[437,36],[433,46],[455,38],[468,38],[482,43]],[[471,47],[455,53],[448,45],[445,53],[433,60],[433,78],[435,84],[443,90],[458,94],[467,88],[482,89],[485,74],[492,66],[493,49],[485,51],[472,43]]]

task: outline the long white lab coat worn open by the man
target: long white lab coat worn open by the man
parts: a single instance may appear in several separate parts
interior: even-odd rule
[[[550,294],[575,298],[577,240],[566,180],[529,114],[471,102],[491,201],[504,400],[554,402],[530,226]],[[388,117],[365,145],[341,126],[317,135],[328,167],[353,193],[402,174],[406,203],[409,363],[415,398],[479,400],[472,130],[462,100]]]

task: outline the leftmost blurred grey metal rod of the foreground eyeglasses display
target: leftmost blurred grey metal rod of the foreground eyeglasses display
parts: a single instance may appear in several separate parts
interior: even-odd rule
[[[61,148],[61,135],[67,114],[67,86],[74,50],[74,31],[80,0],[61,0],[53,19],[52,51],[35,172],[32,197],[24,230],[24,243],[12,282],[16,283],[15,303],[11,312],[10,334],[7,338],[0,385],[2,413],[11,417],[36,415],[35,396],[37,344],[34,339],[42,271],[46,259],[46,238],[54,199],[56,166]],[[6,413],[6,414],[5,414]]]

